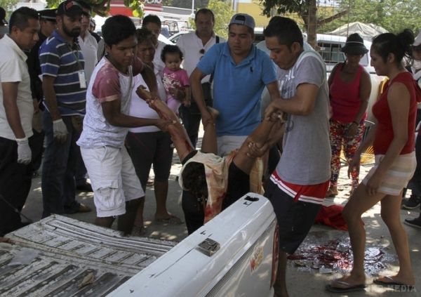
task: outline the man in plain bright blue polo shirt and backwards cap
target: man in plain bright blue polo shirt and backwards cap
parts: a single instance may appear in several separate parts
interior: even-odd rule
[[[241,147],[260,124],[260,96],[267,86],[271,98],[279,97],[274,65],[269,56],[253,46],[255,20],[237,13],[229,22],[227,43],[215,44],[203,55],[190,75],[194,100],[202,121],[212,121],[206,110],[201,79],[213,73],[213,107],[216,119],[218,154],[228,154]]]

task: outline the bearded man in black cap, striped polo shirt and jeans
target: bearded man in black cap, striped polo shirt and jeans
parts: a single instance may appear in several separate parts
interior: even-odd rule
[[[74,185],[76,138],[80,135],[86,105],[84,60],[76,42],[82,13],[78,2],[62,2],[57,8],[58,29],[39,49],[46,107],[43,119],[46,150],[41,180],[43,217],[51,213],[91,211],[76,202]]]

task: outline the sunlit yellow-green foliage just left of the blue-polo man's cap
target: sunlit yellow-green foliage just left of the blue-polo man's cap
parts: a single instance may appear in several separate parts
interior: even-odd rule
[[[200,8],[209,8],[211,11],[213,11],[213,14],[215,15],[215,27],[213,28],[213,30],[218,36],[227,39],[229,20],[231,20],[232,15],[234,15],[231,3],[220,0],[209,0],[208,6],[196,7],[196,11]],[[190,25],[193,29],[196,29],[196,25],[194,25],[194,20],[190,20]]]

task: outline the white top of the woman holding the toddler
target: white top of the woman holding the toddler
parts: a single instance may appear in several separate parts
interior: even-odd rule
[[[162,83],[162,74],[159,70],[154,67],[154,72],[156,76],[156,85],[158,86],[158,95],[161,100],[164,102],[166,101],[166,92],[165,88],[163,87]],[[132,91],[132,100],[130,104],[130,112],[129,114],[133,117],[140,117],[143,119],[159,119],[159,115],[152,110],[152,108],[147,105],[145,100],[139,98],[138,94],[136,94],[136,90],[138,86],[142,85],[149,90],[145,80],[142,77],[142,74],[138,74],[133,78],[133,85],[135,86]],[[130,128],[129,131],[133,133],[145,133],[145,132],[157,132],[160,131],[157,126],[142,126],[136,128]]]

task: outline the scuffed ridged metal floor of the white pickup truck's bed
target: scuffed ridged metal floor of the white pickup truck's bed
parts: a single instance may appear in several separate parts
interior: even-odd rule
[[[8,237],[13,245],[0,244],[0,296],[8,297],[105,296],[176,244],[123,237],[64,216],[44,218]]]

